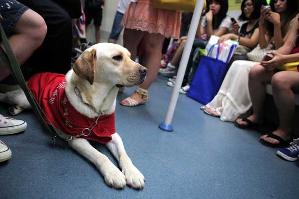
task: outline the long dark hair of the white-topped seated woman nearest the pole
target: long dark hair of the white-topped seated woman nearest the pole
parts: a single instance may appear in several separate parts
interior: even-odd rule
[[[217,29],[221,24],[222,20],[226,17],[226,13],[228,10],[228,0],[209,0],[207,1],[207,9],[206,12],[210,10],[210,4],[212,2],[217,2],[220,4],[220,10],[216,17],[213,16],[212,26],[213,29]]]

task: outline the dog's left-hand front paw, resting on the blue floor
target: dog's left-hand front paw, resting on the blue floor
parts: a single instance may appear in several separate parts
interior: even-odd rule
[[[115,189],[124,189],[126,186],[125,175],[115,165],[109,165],[109,167],[102,170],[101,173],[103,174],[108,186]]]

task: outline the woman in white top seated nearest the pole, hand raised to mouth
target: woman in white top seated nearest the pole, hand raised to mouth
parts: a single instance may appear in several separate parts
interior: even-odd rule
[[[192,50],[190,53],[188,65],[185,74],[189,74],[189,71],[192,66],[192,58],[193,53],[197,47],[205,48],[207,41],[211,37],[211,35],[217,35],[222,36],[231,29],[231,20],[230,17],[226,15],[228,10],[228,1],[227,0],[210,0],[207,3],[207,9],[206,12],[203,12],[196,31],[196,38],[194,39]],[[206,38],[206,40],[203,40],[202,38]],[[181,50],[177,50],[177,52],[174,55],[173,60],[170,62],[173,67],[177,67],[177,64],[179,63],[179,60],[181,58],[181,55],[183,53],[183,46]],[[188,67],[190,66],[190,67]],[[170,68],[170,67],[168,67]],[[187,77],[188,75],[185,75],[184,82],[182,86],[184,87],[187,83]],[[174,83],[168,86],[174,86]],[[186,94],[187,92],[182,90],[181,93]],[[189,90],[189,89],[188,89]]]

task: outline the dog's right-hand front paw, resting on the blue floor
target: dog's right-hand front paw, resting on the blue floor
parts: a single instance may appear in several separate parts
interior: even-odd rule
[[[141,190],[145,187],[145,177],[132,163],[123,167],[123,173],[130,187],[137,190]]]

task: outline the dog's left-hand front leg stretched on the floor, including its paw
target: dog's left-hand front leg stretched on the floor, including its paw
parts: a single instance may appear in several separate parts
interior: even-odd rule
[[[87,158],[103,175],[107,185],[115,189],[123,189],[126,186],[125,175],[108,159],[107,156],[100,153],[86,139],[77,138],[68,141],[68,144]]]

